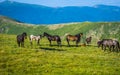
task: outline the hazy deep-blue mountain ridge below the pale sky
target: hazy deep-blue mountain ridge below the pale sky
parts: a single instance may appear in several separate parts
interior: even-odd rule
[[[120,21],[120,7],[96,5],[94,7],[47,7],[11,1],[0,2],[0,15],[31,24],[57,24],[68,22]]]

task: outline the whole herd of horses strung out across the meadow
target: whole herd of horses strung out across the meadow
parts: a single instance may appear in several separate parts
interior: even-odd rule
[[[76,46],[78,46],[78,43],[80,42],[81,40],[81,37],[83,36],[83,33],[79,33],[79,34],[76,34],[76,35],[66,35],[66,41],[68,43],[68,46],[70,46],[70,41],[75,41],[76,42]],[[43,37],[47,37],[49,43],[50,43],[50,46],[51,46],[51,42],[52,41],[56,41],[57,42],[57,45],[58,46],[62,46],[61,45],[61,38],[60,36],[58,35],[50,35],[46,32],[43,33],[43,35],[38,35],[38,36],[34,36],[34,35],[30,35],[29,39],[30,39],[30,43],[32,45],[32,41],[35,40],[37,41],[37,44],[39,45],[40,44],[40,40],[43,38]],[[23,32],[22,34],[20,35],[17,35],[17,44],[18,46],[20,47],[24,47],[24,40],[27,38],[27,33],[26,32]],[[88,37],[85,39],[86,43],[87,44],[90,44],[91,43],[91,40],[92,40],[92,37]],[[85,44],[86,45],[86,44]],[[117,40],[112,40],[112,39],[102,39],[102,40],[99,40],[97,42],[97,45],[98,45],[98,48],[101,47],[102,50],[106,50],[106,47],[108,47],[108,49],[110,51],[120,51],[120,44]]]

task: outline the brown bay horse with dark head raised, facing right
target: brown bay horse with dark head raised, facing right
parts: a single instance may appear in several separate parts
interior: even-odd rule
[[[83,33],[79,33],[76,35],[70,35],[68,34],[66,36],[66,41],[68,43],[68,46],[70,46],[69,41],[76,41],[76,46],[78,46],[78,43],[80,42],[81,37],[83,36]]]

